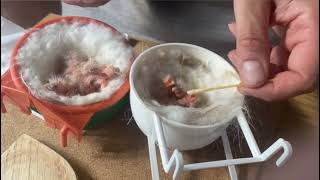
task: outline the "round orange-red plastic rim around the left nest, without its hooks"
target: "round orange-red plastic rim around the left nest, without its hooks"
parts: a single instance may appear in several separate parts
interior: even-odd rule
[[[111,29],[115,35],[121,35],[121,33],[118,32],[114,27],[112,27],[104,22],[101,22],[101,21],[98,21],[95,19],[91,19],[91,18],[87,18],[87,17],[79,17],[79,16],[58,17],[58,18],[54,18],[54,19],[45,21],[43,23],[40,23],[40,24],[34,26],[31,30],[26,32],[19,39],[18,43],[16,44],[16,46],[13,49],[12,56],[10,58],[10,73],[11,73],[11,77],[12,77],[12,80],[13,80],[15,86],[19,90],[32,96],[33,98],[36,98],[36,97],[34,97],[29,92],[28,87],[23,82],[22,78],[20,78],[21,77],[20,66],[18,64],[16,64],[16,56],[18,54],[19,49],[25,44],[27,38],[33,32],[36,32],[39,29],[42,29],[47,25],[59,23],[61,21],[66,22],[66,23],[70,23],[70,24],[74,23],[74,22],[81,23],[81,24],[95,23],[95,24],[98,24],[98,25],[101,25],[101,26],[104,26],[106,28]],[[128,43],[126,43],[126,44],[128,44]],[[129,46],[129,44],[128,44],[128,46]],[[133,62],[133,59],[134,59],[134,56],[132,55],[132,58],[129,60],[131,62],[131,64]],[[131,64],[130,64],[130,66],[131,66]],[[129,86],[129,74],[128,74],[125,82],[121,85],[121,87],[115,93],[113,93],[113,95],[109,99],[99,101],[96,103],[87,104],[87,105],[64,105],[64,104],[55,104],[55,103],[52,103],[52,102],[49,102],[49,101],[43,100],[43,99],[41,99],[41,100],[38,98],[36,98],[36,99],[38,99],[39,101],[44,103],[49,108],[53,108],[53,109],[60,111],[60,112],[67,111],[67,112],[72,112],[72,113],[90,113],[90,112],[97,112],[97,111],[100,111],[102,109],[105,109],[105,108],[108,108],[108,107],[114,105],[115,103],[117,103],[120,99],[122,99],[128,93],[129,88],[130,88],[130,86]]]

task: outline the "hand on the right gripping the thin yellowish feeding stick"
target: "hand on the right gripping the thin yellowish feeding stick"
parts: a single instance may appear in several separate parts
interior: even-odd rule
[[[239,92],[266,101],[315,89],[319,74],[318,0],[234,0],[229,29],[236,49],[228,57],[237,68]],[[281,37],[272,47],[268,29]]]

